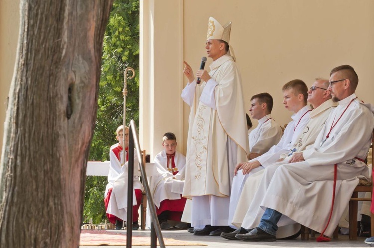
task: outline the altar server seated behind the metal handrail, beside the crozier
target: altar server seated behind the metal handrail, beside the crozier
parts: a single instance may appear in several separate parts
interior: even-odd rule
[[[127,220],[127,179],[128,179],[128,149],[129,149],[129,128],[123,125],[116,130],[116,139],[119,143],[110,147],[108,184],[104,193],[104,203],[109,221],[115,224],[117,230],[122,229],[123,222]],[[125,135],[125,143],[123,143]],[[125,154],[123,154],[125,147]],[[134,152],[135,153],[135,152]],[[123,159],[125,157],[125,159]],[[126,162],[125,162],[126,161]],[[134,166],[138,166],[138,158],[134,156]],[[135,170],[134,170],[135,171]],[[133,191],[133,230],[139,229],[139,206],[142,200],[143,185],[139,177],[134,176]]]

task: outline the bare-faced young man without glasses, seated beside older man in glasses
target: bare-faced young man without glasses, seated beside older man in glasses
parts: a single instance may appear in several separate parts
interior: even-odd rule
[[[276,162],[282,153],[288,152],[309,121],[311,108],[307,105],[308,87],[306,84],[300,79],[295,79],[286,83],[282,87],[282,91],[284,97],[283,104],[286,109],[294,112],[291,116],[292,121],[288,123],[281,140],[276,145],[273,145],[270,150],[258,157],[252,154],[252,159],[249,162],[239,163],[236,166],[231,189],[229,225],[232,223],[237,202],[246,179],[257,171],[263,170],[268,165]],[[277,124],[277,126],[279,125]],[[278,130],[280,130],[280,127]]]

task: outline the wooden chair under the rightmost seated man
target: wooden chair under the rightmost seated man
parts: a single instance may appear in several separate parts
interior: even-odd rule
[[[373,152],[373,140],[374,140],[374,132],[372,137],[372,151],[371,151],[371,162],[373,168],[374,162],[374,152]],[[370,157],[370,156],[369,156]],[[352,197],[349,201],[349,210],[348,210],[348,219],[349,219],[349,231],[350,231],[350,240],[357,240],[357,203],[359,201],[372,201],[372,195],[366,198],[359,198],[359,192],[373,192],[373,174],[371,176],[370,182],[365,180],[360,180],[359,184],[356,186],[355,190],[352,193]],[[374,215],[370,213],[370,228],[371,228],[371,236],[374,236]]]

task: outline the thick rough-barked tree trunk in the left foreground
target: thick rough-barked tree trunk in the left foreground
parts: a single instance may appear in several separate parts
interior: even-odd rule
[[[0,247],[79,247],[113,0],[21,0],[0,164]]]

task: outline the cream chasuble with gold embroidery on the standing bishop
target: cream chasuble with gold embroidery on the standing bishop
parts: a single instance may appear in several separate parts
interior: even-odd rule
[[[233,176],[230,167],[236,165],[228,163],[229,144],[237,146],[232,154],[237,163],[246,161],[249,152],[241,76],[236,63],[231,56],[224,55],[210,65],[209,75],[212,79],[195,86],[189,117],[183,189],[187,198],[228,197]],[[213,93],[210,102],[209,92]]]

